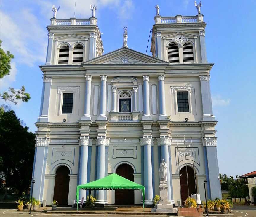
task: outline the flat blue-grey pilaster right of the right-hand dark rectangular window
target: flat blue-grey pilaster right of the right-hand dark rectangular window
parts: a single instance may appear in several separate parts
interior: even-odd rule
[[[212,112],[212,98],[210,89],[210,76],[199,76],[201,84],[201,96],[203,106],[203,121],[215,121]]]

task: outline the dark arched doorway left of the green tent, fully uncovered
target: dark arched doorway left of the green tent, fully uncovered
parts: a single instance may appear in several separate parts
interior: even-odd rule
[[[68,205],[69,169],[61,166],[56,171],[53,199],[58,205]]]

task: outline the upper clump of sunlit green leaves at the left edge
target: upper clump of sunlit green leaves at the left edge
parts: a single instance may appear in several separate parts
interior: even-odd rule
[[[11,60],[14,58],[13,54],[9,51],[6,53],[1,48],[2,41],[0,40],[0,78],[10,74]]]

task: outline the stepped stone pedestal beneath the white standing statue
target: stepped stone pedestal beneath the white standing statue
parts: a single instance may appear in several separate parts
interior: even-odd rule
[[[168,185],[167,181],[160,181],[159,185],[160,200],[151,208],[151,212],[157,213],[177,213],[178,209],[173,208],[173,204],[168,200]]]

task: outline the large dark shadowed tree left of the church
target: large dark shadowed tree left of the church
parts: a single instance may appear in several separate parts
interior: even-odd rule
[[[0,107],[0,174],[6,187],[16,189],[19,195],[30,187],[35,136],[20,124],[13,110],[4,111]]]

